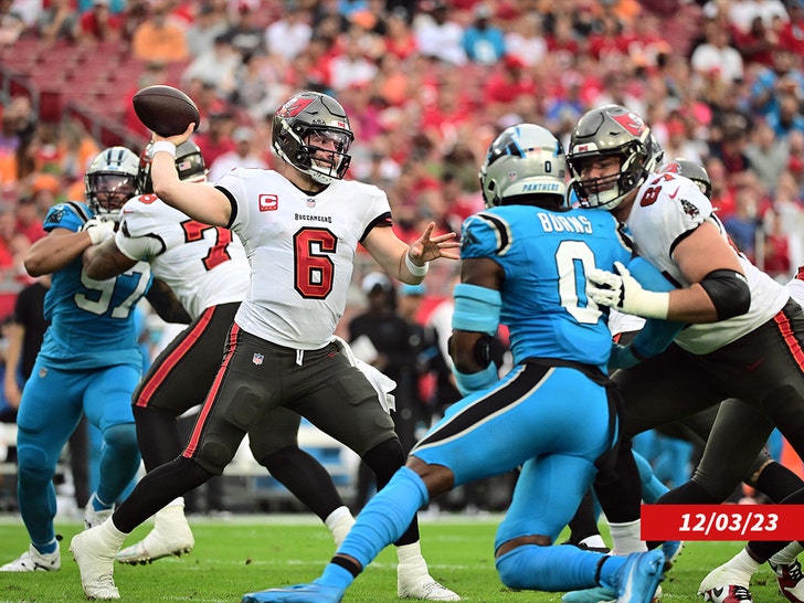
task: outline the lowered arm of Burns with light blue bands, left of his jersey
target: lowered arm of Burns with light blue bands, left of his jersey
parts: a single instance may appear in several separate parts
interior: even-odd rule
[[[461,283],[453,293],[449,356],[464,395],[488,388],[498,379],[491,361],[491,342],[499,327],[504,279],[503,267],[488,257],[467,258],[461,266]]]

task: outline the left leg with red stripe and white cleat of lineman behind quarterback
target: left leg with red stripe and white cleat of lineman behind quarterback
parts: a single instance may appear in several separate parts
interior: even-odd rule
[[[146,472],[178,457],[183,448],[177,419],[203,402],[220,367],[226,331],[240,304],[204,310],[159,353],[133,396]],[[177,497],[154,516],[154,529],[117,554],[123,563],[150,563],[192,550],[195,540]]]

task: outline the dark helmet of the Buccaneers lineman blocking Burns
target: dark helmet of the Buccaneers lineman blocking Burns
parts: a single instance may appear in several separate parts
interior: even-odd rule
[[[572,130],[567,155],[570,186],[582,207],[613,210],[656,170],[663,155],[642,117],[620,105],[604,105],[586,112]],[[583,179],[589,161],[612,156],[620,159],[617,173]]]

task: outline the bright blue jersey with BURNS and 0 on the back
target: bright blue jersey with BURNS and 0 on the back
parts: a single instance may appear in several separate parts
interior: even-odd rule
[[[607,313],[586,297],[586,273],[628,263],[630,240],[606,211],[503,205],[463,224],[461,257],[488,257],[505,271],[500,321],[514,360],[556,358],[605,367]]]

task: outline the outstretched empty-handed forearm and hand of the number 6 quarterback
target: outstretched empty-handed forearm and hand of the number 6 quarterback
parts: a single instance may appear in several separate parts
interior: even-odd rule
[[[417,285],[427,274],[429,262],[438,257],[459,257],[456,252],[449,251],[461,246],[455,241],[455,233],[433,236],[435,222],[431,222],[422,236],[408,245],[392,229],[375,226],[366,235],[363,246],[388,274],[409,285]]]

